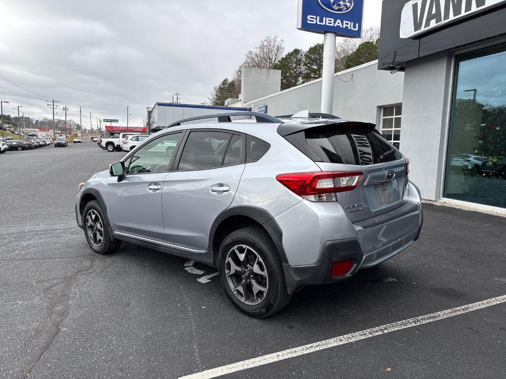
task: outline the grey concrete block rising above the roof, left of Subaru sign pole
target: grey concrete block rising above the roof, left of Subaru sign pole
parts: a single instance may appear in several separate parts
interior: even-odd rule
[[[262,98],[281,89],[281,70],[243,67],[241,100],[243,103]]]

